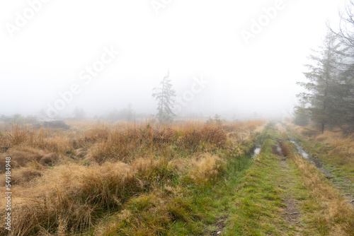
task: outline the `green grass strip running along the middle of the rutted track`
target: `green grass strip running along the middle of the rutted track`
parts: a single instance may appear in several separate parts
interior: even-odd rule
[[[282,215],[284,200],[287,195],[301,199],[304,190],[296,171],[284,172],[280,158],[273,154],[279,138],[273,127],[267,129],[261,153],[239,180],[227,235],[297,235],[296,225],[288,224]]]

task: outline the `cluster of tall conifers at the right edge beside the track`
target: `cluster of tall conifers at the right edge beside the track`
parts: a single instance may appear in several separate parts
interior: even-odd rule
[[[327,129],[354,132],[354,2],[349,1],[341,14],[339,30],[329,27],[319,50],[309,56],[304,76],[298,82],[306,93],[299,93],[300,105],[295,107],[295,123],[309,120],[322,133]]]

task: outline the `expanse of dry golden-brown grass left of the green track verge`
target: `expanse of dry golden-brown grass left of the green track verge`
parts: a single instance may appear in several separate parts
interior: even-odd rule
[[[224,171],[224,160],[212,151],[234,147],[228,133],[236,134],[234,141],[236,136],[246,140],[265,122],[70,125],[65,131],[1,127],[1,146],[11,146],[0,155],[1,162],[11,156],[13,164],[13,235],[85,232],[103,213],[118,211],[132,196],[169,185],[176,177],[210,182]],[[1,225],[0,234],[5,233]]]

